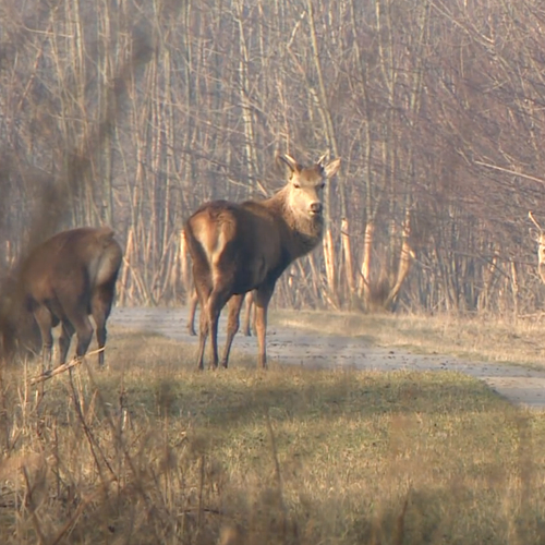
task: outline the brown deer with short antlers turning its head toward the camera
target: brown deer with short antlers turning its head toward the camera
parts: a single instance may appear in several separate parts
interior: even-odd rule
[[[284,186],[269,198],[203,204],[185,221],[193,279],[201,304],[197,368],[210,337],[209,367],[218,367],[218,318],[228,305],[227,341],[221,365],[239,328],[244,294],[253,291],[258,360],[267,367],[265,347],[267,308],[275,284],[295,259],[314,250],[324,231],[323,190],[340,167],[340,158],[325,164],[326,155],[303,167],[290,155],[279,159],[289,169]]]

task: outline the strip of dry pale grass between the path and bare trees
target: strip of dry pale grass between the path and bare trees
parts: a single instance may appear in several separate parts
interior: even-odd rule
[[[545,366],[545,323],[487,316],[391,315],[277,311],[275,324],[320,335],[360,337],[379,347],[470,360]]]

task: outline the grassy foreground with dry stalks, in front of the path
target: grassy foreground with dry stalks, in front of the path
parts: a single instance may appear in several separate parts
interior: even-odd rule
[[[5,370],[0,543],[544,543],[541,413],[458,374],[196,373],[194,352],[117,331],[108,371],[41,400],[36,364]]]

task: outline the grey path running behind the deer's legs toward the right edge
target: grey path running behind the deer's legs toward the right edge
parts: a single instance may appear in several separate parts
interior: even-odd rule
[[[117,307],[110,325],[154,331],[185,342],[196,338],[187,334],[186,308]],[[220,324],[220,331],[225,325]],[[521,366],[461,361],[448,355],[416,355],[400,350],[374,348],[361,340],[339,336],[316,336],[270,324],[267,331],[269,360],[308,367],[353,367],[358,370],[458,371],[484,380],[513,403],[545,409],[545,372]],[[219,342],[225,337],[220,334]],[[257,353],[254,337],[239,334],[233,350]]]

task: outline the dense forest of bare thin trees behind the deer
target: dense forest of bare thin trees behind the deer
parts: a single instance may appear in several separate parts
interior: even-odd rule
[[[120,303],[183,303],[191,211],[328,152],[324,244],[277,305],[543,306],[543,2],[1,0],[0,21],[2,272],[109,223]]]

